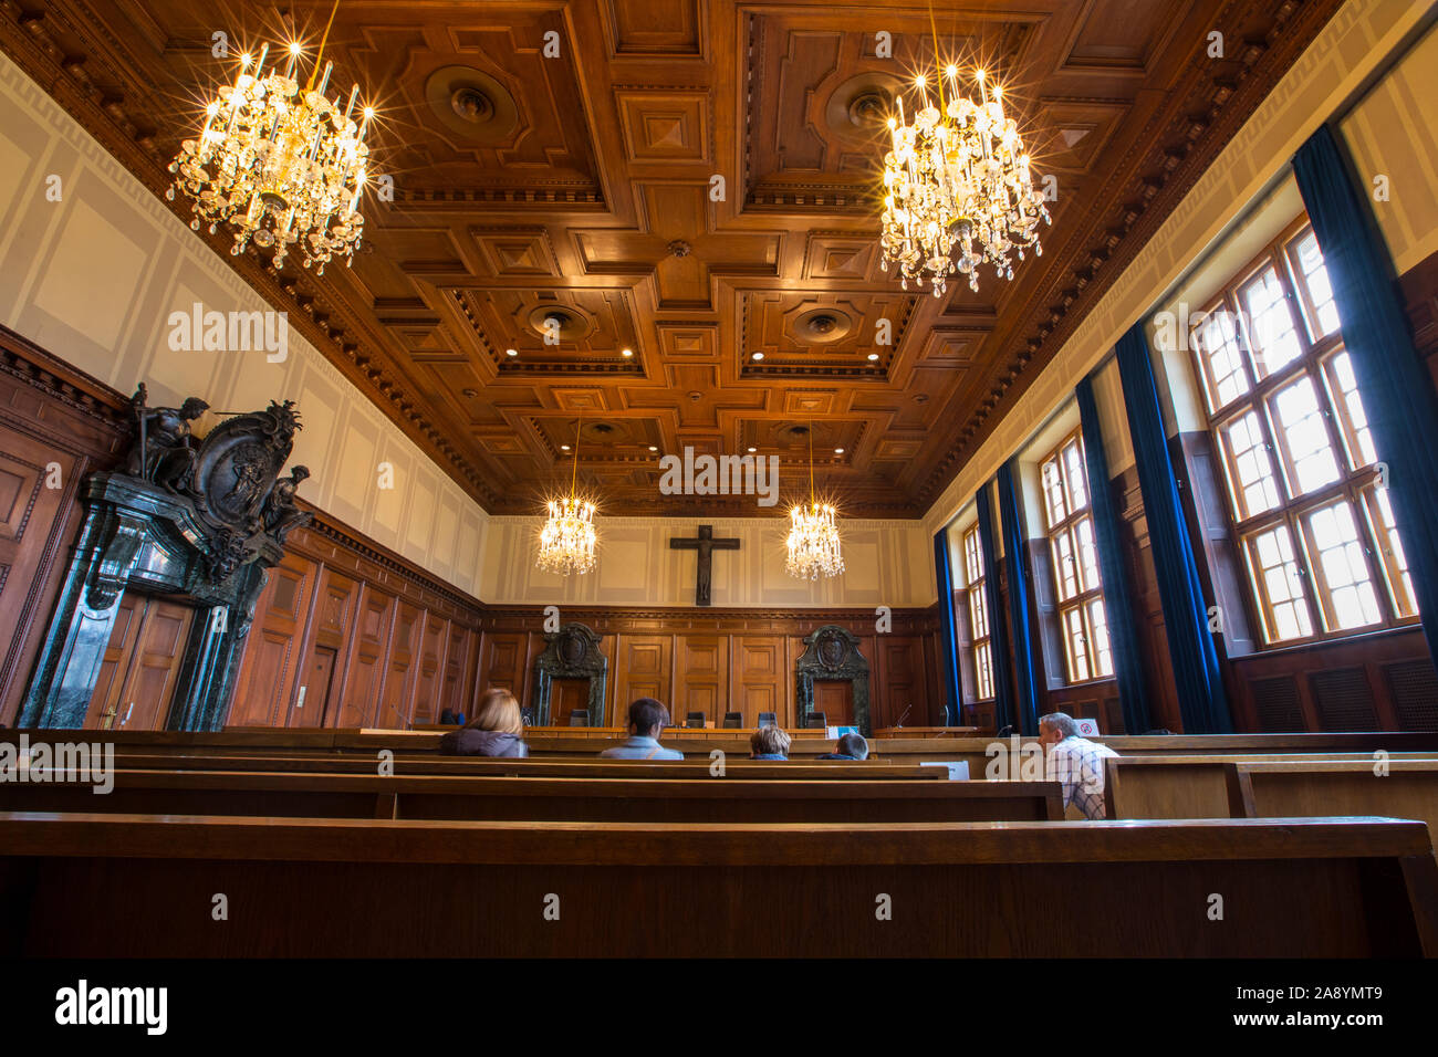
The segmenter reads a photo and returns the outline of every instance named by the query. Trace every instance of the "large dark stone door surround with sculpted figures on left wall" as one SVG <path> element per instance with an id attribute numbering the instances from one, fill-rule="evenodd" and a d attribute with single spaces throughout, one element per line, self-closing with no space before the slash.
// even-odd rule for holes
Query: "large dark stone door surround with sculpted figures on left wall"
<path id="1" fill-rule="evenodd" d="M 266 569 L 312 516 L 295 498 L 309 470 L 279 477 L 301 427 L 293 401 L 232 416 L 203 439 L 190 423 L 206 401 L 145 401 L 139 385 L 124 472 L 85 482 L 85 528 L 26 693 L 26 726 L 83 725 L 121 595 L 134 588 L 197 611 L 165 726 L 219 729 Z"/>

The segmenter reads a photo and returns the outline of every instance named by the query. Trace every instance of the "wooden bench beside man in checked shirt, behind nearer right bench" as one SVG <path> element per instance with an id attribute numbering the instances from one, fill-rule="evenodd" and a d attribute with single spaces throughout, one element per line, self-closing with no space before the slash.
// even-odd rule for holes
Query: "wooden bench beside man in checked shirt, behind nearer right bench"
<path id="1" fill-rule="evenodd" d="M 1438 759 L 1438 755 L 1395 752 L 1391 759 L 1415 762 Z M 1229 818 L 1232 815 L 1228 800 L 1228 768 L 1238 762 L 1281 761 L 1307 764 L 1352 761 L 1373 767 L 1372 754 L 1343 752 L 1109 758 L 1104 761 L 1106 813 L 1109 818 Z"/>

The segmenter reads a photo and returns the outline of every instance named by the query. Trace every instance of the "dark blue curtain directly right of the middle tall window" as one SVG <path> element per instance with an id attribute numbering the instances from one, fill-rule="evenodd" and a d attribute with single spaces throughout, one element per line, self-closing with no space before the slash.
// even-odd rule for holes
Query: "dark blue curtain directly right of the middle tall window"
<path id="1" fill-rule="evenodd" d="M 1093 511 L 1093 535 L 1099 546 L 1099 572 L 1103 577 L 1103 611 L 1109 618 L 1109 647 L 1113 651 L 1113 674 L 1119 682 L 1123 705 L 1123 726 L 1129 733 L 1152 729 L 1148 687 L 1143 685 L 1143 662 L 1139 654 L 1139 633 L 1133 624 L 1135 598 L 1129 588 L 1129 569 L 1123 561 L 1119 536 L 1119 509 L 1113 502 L 1109 477 L 1109 457 L 1103 450 L 1103 427 L 1099 406 L 1093 398 L 1093 375 L 1078 383 L 1078 417 L 1083 420 L 1083 452 L 1089 472 L 1089 506 Z"/>

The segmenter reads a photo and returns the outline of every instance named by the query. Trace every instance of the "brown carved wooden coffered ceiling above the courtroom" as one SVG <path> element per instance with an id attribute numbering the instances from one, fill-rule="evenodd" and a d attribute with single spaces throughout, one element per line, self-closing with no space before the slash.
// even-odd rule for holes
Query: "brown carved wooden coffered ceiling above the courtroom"
<path id="1" fill-rule="evenodd" d="M 332 85 L 378 101 L 394 201 L 352 269 L 226 259 L 492 513 L 535 512 L 582 418 L 607 512 L 754 513 L 660 495 L 659 454 L 778 453 L 797 490 L 808 426 L 844 513 L 917 516 L 1339 1 L 936 3 L 1058 200 L 1014 282 L 935 299 L 880 270 L 873 193 L 873 98 L 932 55 L 925 3 L 342 0 Z M 161 194 L 233 76 L 211 35 L 313 42 L 328 13 L 0 0 L 0 46 Z"/>

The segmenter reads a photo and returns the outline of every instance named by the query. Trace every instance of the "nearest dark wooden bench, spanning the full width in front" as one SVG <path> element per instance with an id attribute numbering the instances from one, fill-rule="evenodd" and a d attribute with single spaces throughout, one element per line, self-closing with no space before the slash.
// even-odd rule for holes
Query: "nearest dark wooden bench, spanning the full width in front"
<path id="1" fill-rule="evenodd" d="M 1428 833 L 1386 818 L 637 825 L 3 813 L 0 856 L 9 956 L 1438 955 Z M 1219 920 L 1211 893 L 1225 900 Z"/>

